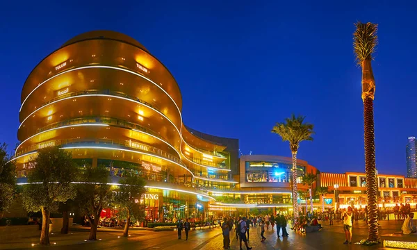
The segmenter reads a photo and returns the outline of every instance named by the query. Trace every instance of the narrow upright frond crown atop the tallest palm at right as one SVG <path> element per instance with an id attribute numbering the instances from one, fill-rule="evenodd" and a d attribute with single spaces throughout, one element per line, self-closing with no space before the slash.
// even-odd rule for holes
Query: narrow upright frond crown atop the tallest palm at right
<path id="1" fill-rule="evenodd" d="M 357 63 L 360 65 L 363 60 L 373 59 L 372 54 L 378 43 L 378 24 L 357 22 L 354 25 L 356 31 L 353 33 L 353 50 Z"/>

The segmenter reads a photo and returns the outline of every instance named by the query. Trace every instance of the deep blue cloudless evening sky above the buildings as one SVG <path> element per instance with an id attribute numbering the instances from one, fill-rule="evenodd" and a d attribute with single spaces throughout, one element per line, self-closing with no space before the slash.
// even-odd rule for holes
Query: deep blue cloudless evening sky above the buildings
<path id="1" fill-rule="evenodd" d="M 299 158 L 322 172 L 363 172 L 357 20 L 379 24 L 377 168 L 406 174 L 405 144 L 417 135 L 416 1 L 1 1 L 0 142 L 17 143 L 20 92 L 33 67 L 75 35 L 108 29 L 170 69 L 187 126 L 238 138 L 244 154 L 290 156 L 270 130 L 291 113 L 306 115 L 316 135 Z"/>

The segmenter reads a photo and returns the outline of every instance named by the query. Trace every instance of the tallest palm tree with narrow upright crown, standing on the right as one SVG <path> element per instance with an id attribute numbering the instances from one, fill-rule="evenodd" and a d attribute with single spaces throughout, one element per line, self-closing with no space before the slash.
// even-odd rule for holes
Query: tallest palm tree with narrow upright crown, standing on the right
<path id="1" fill-rule="evenodd" d="M 377 45 L 377 24 L 357 22 L 353 33 L 353 48 L 358 65 L 362 68 L 362 100 L 365 138 L 366 194 L 368 196 L 368 241 L 379 242 L 377 215 L 377 175 L 375 167 L 375 133 L 373 99 L 375 78 L 370 65 Z"/>

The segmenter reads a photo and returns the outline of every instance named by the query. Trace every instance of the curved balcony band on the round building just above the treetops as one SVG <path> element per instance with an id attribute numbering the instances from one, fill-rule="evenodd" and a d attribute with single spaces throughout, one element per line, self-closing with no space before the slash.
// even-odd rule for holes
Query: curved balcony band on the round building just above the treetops
<path id="1" fill-rule="evenodd" d="M 156 147 L 149 146 L 147 144 L 142 144 L 140 142 L 132 142 L 130 140 L 109 140 L 109 139 L 62 139 L 62 140 L 50 140 L 47 142 L 40 142 L 38 144 L 34 144 L 30 147 L 26 147 L 22 149 L 21 151 L 17 152 L 15 157 L 22 156 L 24 153 L 28 153 L 31 151 L 35 151 L 38 149 L 43 149 L 44 147 L 53 147 L 58 145 L 65 145 L 65 146 L 76 146 L 76 145 L 82 145 L 82 146 L 102 146 L 102 145 L 116 145 L 118 147 L 122 148 L 129 148 L 129 149 L 136 149 L 138 152 L 146 152 L 151 153 L 156 156 L 161 156 L 167 160 L 172 160 L 175 163 L 178 163 L 179 165 L 185 167 L 188 169 L 186 165 L 184 165 L 181 161 L 181 159 L 172 156 L 172 154 L 167 153 L 161 149 L 158 149 Z M 122 149 L 121 148 L 121 149 Z"/>

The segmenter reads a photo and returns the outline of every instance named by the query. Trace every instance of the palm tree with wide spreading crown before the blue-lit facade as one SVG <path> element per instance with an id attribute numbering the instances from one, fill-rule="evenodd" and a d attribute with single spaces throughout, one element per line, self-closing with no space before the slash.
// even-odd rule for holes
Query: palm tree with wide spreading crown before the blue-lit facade
<path id="1" fill-rule="evenodd" d="M 272 128 L 272 133 L 277 133 L 281 136 L 282 141 L 290 142 L 291 153 L 293 154 L 293 211 L 294 222 L 298 220 L 298 203 L 297 203 L 297 151 L 300 147 L 300 142 L 303 140 L 312 141 L 314 125 L 304 123 L 305 117 L 291 115 L 286 118 L 284 122 L 277 122 Z"/>

